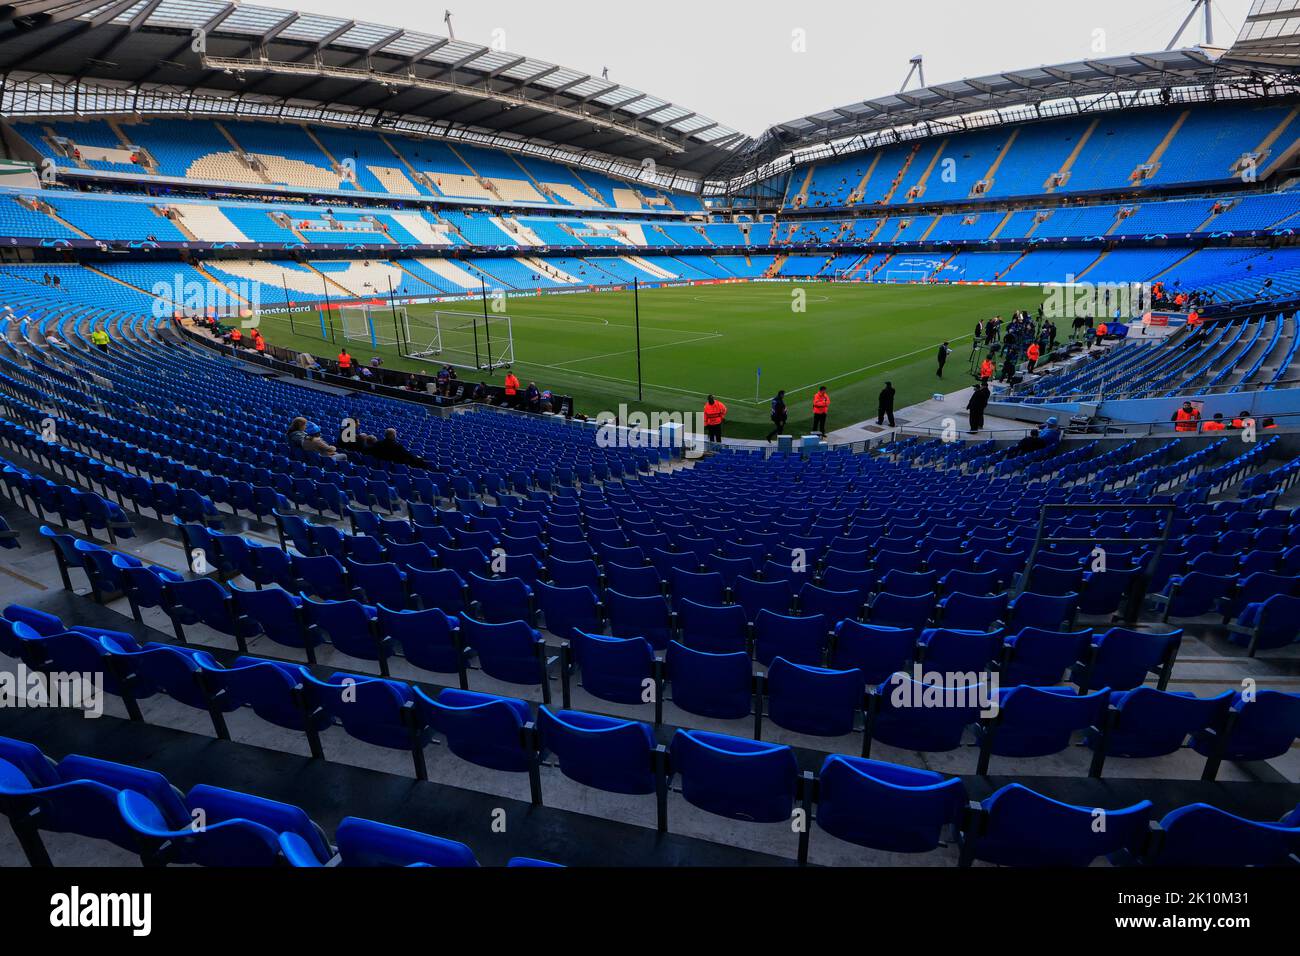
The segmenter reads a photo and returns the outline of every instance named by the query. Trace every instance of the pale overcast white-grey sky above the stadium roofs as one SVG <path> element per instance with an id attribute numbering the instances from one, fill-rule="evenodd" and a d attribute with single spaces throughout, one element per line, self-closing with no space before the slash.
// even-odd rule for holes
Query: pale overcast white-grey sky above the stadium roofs
<path id="1" fill-rule="evenodd" d="M 744 133 L 926 81 L 1164 49 L 1192 0 L 260 0 L 490 46 L 610 78 Z M 1251 0 L 1216 0 L 1228 46 Z M 502 31 L 495 34 L 494 31 Z M 802 31 L 797 34 L 796 31 Z M 1201 22 L 1183 46 L 1200 43 Z M 802 52 L 797 47 L 802 46 Z"/>

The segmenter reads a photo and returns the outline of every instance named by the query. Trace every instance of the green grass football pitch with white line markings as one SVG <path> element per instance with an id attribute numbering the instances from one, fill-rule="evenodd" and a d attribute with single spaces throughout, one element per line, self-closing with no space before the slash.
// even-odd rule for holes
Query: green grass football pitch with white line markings
<path id="1" fill-rule="evenodd" d="M 802 297 L 802 311 L 798 311 Z M 810 424 L 812 394 L 831 390 L 829 428 L 875 418 L 876 395 L 890 380 L 896 407 L 923 402 L 935 392 L 971 384 L 971 334 L 978 319 L 1009 317 L 1018 308 L 1035 312 L 1039 287 L 920 286 L 864 284 L 780 284 L 679 286 L 642 290 L 641 380 L 637 401 L 637 334 L 630 291 L 510 298 L 515 375 L 525 385 L 569 394 L 576 411 L 594 416 L 633 410 L 698 412 L 708 393 L 728 407 L 727 434 L 762 437 L 768 403 L 785 389 L 788 431 Z M 410 306 L 412 326 L 432 321 L 436 310 L 474 312 L 480 299 Z M 389 310 L 376 310 L 376 323 Z M 315 312 L 264 315 L 263 334 L 272 345 L 333 358 L 344 345 L 322 343 Z M 1061 329 L 1069 334 L 1067 328 Z M 391 337 L 391 333 L 390 333 Z M 935 376 L 935 352 L 953 347 L 945 377 Z M 378 352 L 386 368 L 432 373 L 430 362 L 403 358 L 394 346 L 377 350 L 347 342 L 361 362 Z M 759 373 L 759 369 L 762 372 Z M 458 369 L 467 381 L 500 384 L 506 372 Z"/>

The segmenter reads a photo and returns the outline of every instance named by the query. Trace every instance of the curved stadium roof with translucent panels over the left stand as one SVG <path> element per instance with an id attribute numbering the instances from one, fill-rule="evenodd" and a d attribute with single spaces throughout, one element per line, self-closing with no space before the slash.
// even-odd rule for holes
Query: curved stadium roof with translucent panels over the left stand
<path id="1" fill-rule="evenodd" d="M 204 31 L 204 43 L 194 31 Z M 707 174 L 750 138 L 580 70 L 413 30 L 230 0 L 0 4 L 0 70 L 419 117 Z"/>

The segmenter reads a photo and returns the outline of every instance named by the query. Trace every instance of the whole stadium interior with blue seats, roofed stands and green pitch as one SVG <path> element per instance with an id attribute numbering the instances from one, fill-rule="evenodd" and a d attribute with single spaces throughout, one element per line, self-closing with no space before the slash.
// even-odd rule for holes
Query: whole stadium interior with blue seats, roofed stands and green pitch
<path id="1" fill-rule="evenodd" d="M 1184 7 L 748 135 L 0 5 L 0 864 L 1300 865 L 1300 3 Z"/>

